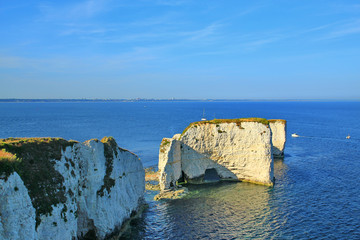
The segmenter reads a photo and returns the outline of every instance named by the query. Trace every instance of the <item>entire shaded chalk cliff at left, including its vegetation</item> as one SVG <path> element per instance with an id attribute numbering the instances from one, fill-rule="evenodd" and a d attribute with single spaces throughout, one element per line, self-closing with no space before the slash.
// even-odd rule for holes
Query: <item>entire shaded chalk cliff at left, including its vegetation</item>
<path id="1" fill-rule="evenodd" d="M 0 157 L 0 239 L 103 239 L 142 201 L 142 164 L 113 138 L 5 139 L 0 148 L 13 154 Z"/>

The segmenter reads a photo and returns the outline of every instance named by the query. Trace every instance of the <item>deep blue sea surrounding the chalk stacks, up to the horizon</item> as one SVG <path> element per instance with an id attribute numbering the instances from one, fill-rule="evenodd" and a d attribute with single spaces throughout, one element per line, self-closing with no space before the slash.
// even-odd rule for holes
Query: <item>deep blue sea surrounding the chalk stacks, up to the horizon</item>
<path id="1" fill-rule="evenodd" d="M 122 239 L 360 239 L 360 102 L 26 102 L 0 103 L 0 112 L 0 138 L 113 136 L 145 167 L 157 165 L 162 138 L 203 113 L 285 119 L 274 187 L 189 185 L 171 201 L 147 191 L 148 208 Z"/>

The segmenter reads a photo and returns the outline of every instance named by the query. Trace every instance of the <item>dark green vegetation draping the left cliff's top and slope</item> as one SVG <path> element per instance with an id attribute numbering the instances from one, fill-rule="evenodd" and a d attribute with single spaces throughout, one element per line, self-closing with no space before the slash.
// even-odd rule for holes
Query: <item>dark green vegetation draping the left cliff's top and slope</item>
<path id="1" fill-rule="evenodd" d="M 40 215 L 51 214 L 53 205 L 66 202 L 64 178 L 52 160 L 60 160 L 61 151 L 75 143 L 62 138 L 0 139 L 0 176 L 7 180 L 11 173 L 19 174 L 36 210 L 36 228 Z"/>

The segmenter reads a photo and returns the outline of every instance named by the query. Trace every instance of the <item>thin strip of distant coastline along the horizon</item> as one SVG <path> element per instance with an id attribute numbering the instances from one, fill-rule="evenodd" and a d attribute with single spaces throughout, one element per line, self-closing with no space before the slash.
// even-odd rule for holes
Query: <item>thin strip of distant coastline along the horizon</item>
<path id="1" fill-rule="evenodd" d="M 359 102 L 360 99 L 101 99 L 101 98 L 81 98 L 81 99 L 21 99 L 6 98 L 0 99 L 0 103 L 61 103 L 61 102 Z"/>

